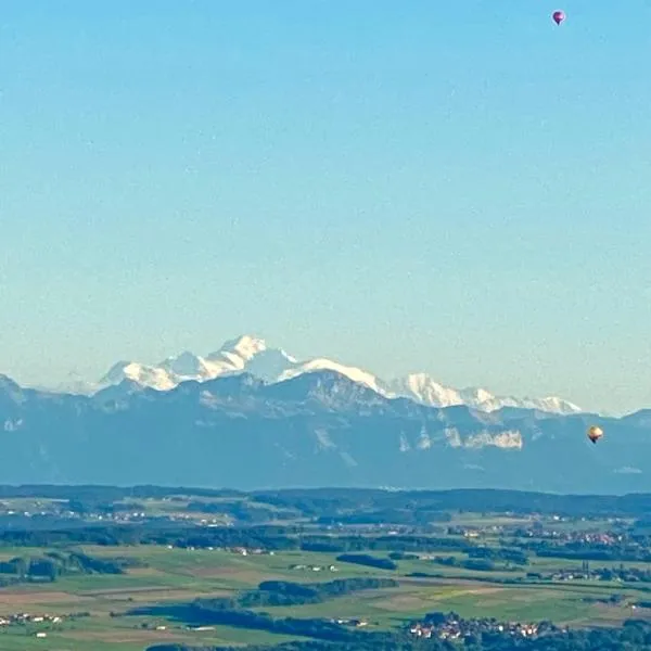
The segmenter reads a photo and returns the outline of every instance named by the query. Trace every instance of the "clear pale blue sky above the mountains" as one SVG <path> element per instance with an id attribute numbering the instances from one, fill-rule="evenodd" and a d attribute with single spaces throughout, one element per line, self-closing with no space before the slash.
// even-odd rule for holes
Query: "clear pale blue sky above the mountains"
<path id="1" fill-rule="evenodd" d="M 0 13 L 0 371 L 257 333 L 651 405 L 651 2 Z"/>

